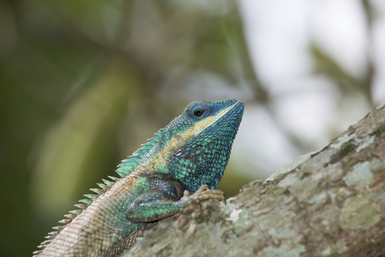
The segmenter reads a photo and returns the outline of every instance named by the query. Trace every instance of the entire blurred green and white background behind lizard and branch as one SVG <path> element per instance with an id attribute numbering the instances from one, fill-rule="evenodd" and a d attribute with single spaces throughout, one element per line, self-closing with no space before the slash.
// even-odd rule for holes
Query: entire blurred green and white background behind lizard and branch
<path id="1" fill-rule="evenodd" d="M 0 1 L 1 256 L 31 256 L 189 102 L 227 98 L 230 197 L 385 100 L 385 1 Z"/>

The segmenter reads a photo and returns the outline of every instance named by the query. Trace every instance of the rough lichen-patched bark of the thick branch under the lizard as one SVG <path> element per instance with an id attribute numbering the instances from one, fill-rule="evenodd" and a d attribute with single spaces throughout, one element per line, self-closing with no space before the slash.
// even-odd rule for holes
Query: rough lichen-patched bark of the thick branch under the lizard
<path id="1" fill-rule="evenodd" d="M 123 256 L 385 256 L 385 102 L 226 205 L 154 223 Z"/>

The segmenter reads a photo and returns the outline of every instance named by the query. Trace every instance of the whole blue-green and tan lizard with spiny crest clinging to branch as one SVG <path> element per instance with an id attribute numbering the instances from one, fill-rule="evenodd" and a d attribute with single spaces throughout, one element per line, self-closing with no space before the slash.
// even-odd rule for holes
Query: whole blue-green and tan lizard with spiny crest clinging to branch
<path id="1" fill-rule="evenodd" d="M 96 194 L 53 227 L 34 257 L 117 257 L 149 222 L 182 213 L 205 199 L 225 201 L 215 190 L 227 166 L 243 116 L 236 99 L 194 101 L 142 144 Z"/>

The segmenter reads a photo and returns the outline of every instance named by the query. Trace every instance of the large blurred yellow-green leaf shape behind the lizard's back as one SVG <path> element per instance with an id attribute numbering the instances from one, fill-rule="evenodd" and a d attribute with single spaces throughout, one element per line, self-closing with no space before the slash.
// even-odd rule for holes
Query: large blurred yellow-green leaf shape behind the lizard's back
<path id="1" fill-rule="evenodd" d="M 117 125 L 138 84 L 135 75 L 127 77 L 127 72 L 108 62 L 88 82 L 93 86 L 77 95 L 42 138 L 32 181 L 33 206 L 40 221 L 65 214 L 76 197 L 87 193 L 106 172 L 114 173 Z"/>

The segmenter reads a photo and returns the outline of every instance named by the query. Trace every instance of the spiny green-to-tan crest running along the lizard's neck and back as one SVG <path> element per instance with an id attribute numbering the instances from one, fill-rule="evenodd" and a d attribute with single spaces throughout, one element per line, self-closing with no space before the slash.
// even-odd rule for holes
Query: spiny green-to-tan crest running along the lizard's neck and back
<path id="1" fill-rule="evenodd" d="M 122 160 L 122 162 L 117 166 L 118 169 L 116 170 L 116 173 L 118 173 L 120 177 L 124 177 L 124 176 L 128 175 L 129 173 L 131 173 L 133 170 L 135 170 L 135 168 L 139 165 L 139 163 L 142 161 L 144 156 L 158 143 L 159 138 L 162 135 L 163 131 L 164 131 L 164 129 L 159 129 L 159 131 L 154 133 L 156 136 L 147 139 L 148 140 L 147 143 L 142 144 L 141 148 L 136 150 L 131 156 L 128 156 L 127 159 Z M 75 207 L 77 207 L 79 209 L 70 211 L 69 214 L 64 215 L 67 218 L 60 220 L 59 223 L 64 223 L 65 225 L 53 227 L 53 229 L 55 229 L 56 231 L 52 231 L 52 232 L 48 233 L 48 236 L 45 236 L 45 238 L 47 240 L 45 240 L 44 242 L 42 242 L 38 246 L 38 248 L 40 248 L 40 250 L 33 252 L 34 257 L 36 257 L 45 248 L 45 246 L 47 244 L 49 244 L 53 238 L 55 238 L 55 236 L 57 234 L 59 234 L 60 230 L 62 230 L 67 224 L 71 223 L 71 221 L 74 218 L 76 218 L 77 215 L 81 214 L 81 212 L 84 209 L 86 209 L 96 198 L 98 198 L 99 195 L 106 192 L 108 189 L 110 189 L 116 183 L 116 181 L 119 180 L 119 178 L 117 178 L 117 177 L 113 177 L 113 176 L 108 176 L 108 177 L 112 181 L 107 180 L 107 179 L 102 179 L 103 183 L 97 183 L 97 185 L 101 189 L 99 189 L 99 188 L 91 188 L 90 189 L 91 191 L 95 192 L 96 195 L 95 194 L 85 194 L 84 196 L 89 198 L 89 199 L 79 200 L 79 202 L 82 204 L 76 204 L 75 205 Z"/>

